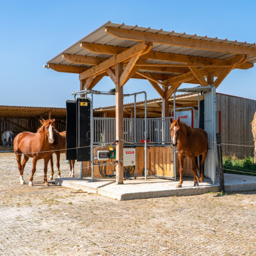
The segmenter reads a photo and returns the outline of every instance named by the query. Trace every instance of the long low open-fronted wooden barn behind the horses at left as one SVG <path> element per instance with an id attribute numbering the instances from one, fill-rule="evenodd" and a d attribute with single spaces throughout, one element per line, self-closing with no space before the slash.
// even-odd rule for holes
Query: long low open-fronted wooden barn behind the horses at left
<path id="1" fill-rule="evenodd" d="M 11 130 L 15 136 L 20 132 L 37 132 L 42 118 L 54 118 L 56 129 L 66 130 L 66 108 L 0 105 L 0 132 Z"/>

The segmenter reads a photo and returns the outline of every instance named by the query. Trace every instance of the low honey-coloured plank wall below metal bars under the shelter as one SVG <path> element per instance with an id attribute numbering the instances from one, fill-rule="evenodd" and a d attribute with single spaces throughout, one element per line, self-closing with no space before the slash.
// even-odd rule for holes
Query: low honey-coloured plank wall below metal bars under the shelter
<path id="1" fill-rule="evenodd" d="M 113 147 L 115 148 L 115 147 Z M 96 155 L 96 151 L 98 150 L 108 150 L 108 147 L 97 147 L 94 148 L 94 155 Z M 137 147 L 136 148 L 136 161 L 137 161 L 137 174 L 143 173 L 144 166 L 144 148 Z M 115 160 L 115 159 L 113 159 Z M 111 163 L 112 159 L 107 160 L 107 163 Z M 96 163 L 98 161 L 96 160 Z M 176 175 L 179 176 L 179 159 L 176 156 Z M 83 177 L 91 176 L 91 163 L 84 162 L 83 163 Z M 103 166 L 104 168 L 104 166 Z M 185 158 L 184 166 L 183 166 L 183 175 L 185 176 L 193 176 L 193 172 L 191 172 L 191 163 L 189 158 Z M 173 163 L 173 149 L 170 146 L 165 147 L 150 147 L 147 149 L 147 169 L 149 169 L 149 176 L 157 175 L 157 176 L 168 176 L 174 177 L 174 163 Z M 114 166 L 106 166 L 106 173 L 108 175 L 112 175 L 114 171 Z M 102 177 L 99 172 L 99 166 L 94 166 L 94 177 L 100 178 Z"/>

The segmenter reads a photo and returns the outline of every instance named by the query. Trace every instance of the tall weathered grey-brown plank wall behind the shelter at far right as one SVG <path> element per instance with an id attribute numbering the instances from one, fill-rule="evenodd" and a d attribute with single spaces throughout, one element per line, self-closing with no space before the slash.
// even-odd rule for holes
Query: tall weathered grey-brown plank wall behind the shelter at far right
<path id="1" fill-rule="evenodd" d="M 238 158 L 253 156 L 254 138 L 252 120 L 256 111 L 256 101 L 226 94 L 216 94 L 217 111 L 221 111 L 221 141 L 224 155 L 236 155 Z"/>

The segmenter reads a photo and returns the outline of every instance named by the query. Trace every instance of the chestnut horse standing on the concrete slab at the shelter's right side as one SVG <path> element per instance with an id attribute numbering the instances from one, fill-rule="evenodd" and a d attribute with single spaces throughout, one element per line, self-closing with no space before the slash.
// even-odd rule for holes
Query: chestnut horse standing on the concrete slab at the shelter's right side
<path id="1" fill-rule="evenodd" d="M 179 152 L 180 163 L 180 182 L 177 188 L 182 187 L 183 183 L 183 162 L 185 157 L 189 157 L 192 162 L 192 171 L 194 174 L 194 186 L 198 186 L 198 182 L 204 182 L 204 162 L 208 151 L 207 132 L 201 128 L 192 129 L 180 119 L 171 119 L 171 143 L 172 147 Z M 197 155 L 202 155 L 200 180 L 197 176 Z M 176 170 L 174 170 L 176 171 Z"/>

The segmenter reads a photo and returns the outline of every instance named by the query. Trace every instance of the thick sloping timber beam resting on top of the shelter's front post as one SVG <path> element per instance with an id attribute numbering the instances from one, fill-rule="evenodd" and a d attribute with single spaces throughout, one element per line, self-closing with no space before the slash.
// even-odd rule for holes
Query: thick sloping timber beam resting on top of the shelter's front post
<path id="1" fill-rule="evenodd" d="M 106 69 L 111 68 L 112 66 L 115 66 L 117 63 L 121 63 L 126 60 L 129 60 L 134 55 L 143 54 L 143 51 L 148 51 L 148 50 L 150 51 L 151 48 L 149 48 L 149 46 L 151 46 L 152 48 L 152 43 L 141 42 L 139 44 L 136 44 L 132 48 L 129 48 L 126 51 L 121 52 L 120 54 L 115 55 L 112 58 L 107 59 L 96 66 L 93 66 L 87 71 L 80 73 L 79 79 L 83 80 L 90 76 L 96 76 L 99 73 L 105 72 Z"/>

